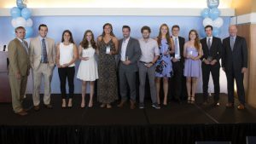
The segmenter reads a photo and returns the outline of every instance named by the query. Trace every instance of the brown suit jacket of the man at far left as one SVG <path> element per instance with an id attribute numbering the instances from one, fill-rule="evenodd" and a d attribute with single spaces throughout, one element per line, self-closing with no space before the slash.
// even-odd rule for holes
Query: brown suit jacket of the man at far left
<path id="1" fill-rule="evenodd" d="M 28 55 L 28 44 L 25 42 L 26 48 L 22 45 L 18 38 L 9 42 L 8 55 L 9 55 L 9 75 L 15 75 L 20 72 L 21 76 L 26 76 L 30 64 Z M 27 49 L 27 50 L 26 50 Z"/>

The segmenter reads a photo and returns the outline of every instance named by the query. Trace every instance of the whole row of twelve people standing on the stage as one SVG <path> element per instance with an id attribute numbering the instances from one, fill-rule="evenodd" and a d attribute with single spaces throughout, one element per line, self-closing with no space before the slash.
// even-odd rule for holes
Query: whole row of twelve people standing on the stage
<path id="1" fill-rule="evenodd" d="M 130 36 L 131 27 L 123 26 L 123 38 L 118 39 L 113 34 L 110 23 L 103 26 L 102 35 L 96 38 L 92 31 L 84 32 L 79 48 L 73 41 L 69 30 L 62 33 L 61 43 L 55 46 L 55 41 L 47 37 L 48 27 L 38 26 L 38 37 L 26 43 L 26 30 L 20 26 L 15 28 L 16 37 L 9 43 L 9 82 L 12 93 L 12 104 L 15 113 L 24 116 L 26 109 L 22 107 L 23 95 L 26 92 L 27 76 L 32 69 L 33 78 L 33 109 L 40 110 L 40 84 L 44 78 L 44 107 L 52 108 L 50 104 L 50 83 L 55 65 L 58 68 L 61 81 L 61 107 L 73 107 L 73 91 L 75 77 L 75 61 L 81 60 L 76 78 L 82 81 L 82 100 L 80 107 L 87 106 L 85 94 L 87 84 L 90 84 L 90 101 L 88 107 L 93 107 L 95 81 L 97 79 L 97 101 L 100 107 L 111 108 L 113 101 L 121 100 L 118 107 L 124 107 L 130 97 L 130 108 L 136 108 L 136 80 L 139 75 L 139 108 L 144 108 L 145 82 L 148 75 L 152 107 L 160 109 L 167 105 L 169 79 L 174 77 L 175 98 L 181 101 L 183 76 L 186 77 L 187 101 L 195 103 L 195 90 L 198 78 L 203 79 L 204 105 L 208 105 L 208 82 L 210 72 L 214 84 L 214 107 L 219 103 L 219 60 L 226 72 L 229 101 L 226 107 L 234 107 L 234 79 L 240 104 L 238 109 L 245 108 L 245 92 L 243 73 L 247 71 L 247 45 L 244 37 L 236 35 L 236 26 L 230 26 L 230 37 L 221 42 L 212 36 L 212 26 L 206 26 L 207 37 L 199 39 L 195 30 L 189 32 L 189 41 L 185 42 L 179 36 L 180 27 L 172 26 L 172 36 L 166 24 L 160 26 L 159 35 L 150 37 L 151 29 L 143 26 L 142 38 Z M 96 57 L 98 58 L 96 60 Z M 202 72 L 202 74 L 201 74 Z M 118 74 L 117 74 L 118 73 Z M 119 77 L 119 83 L 118 83 Z M 69 93 L 67 95 L 66 83 Z M 160 86 L 163 82 L 164 98 L 160 100 Z M 129 92 L 127 87 L 129 87 Z M 130 94 L 128 96 L 127 94 Z"/>

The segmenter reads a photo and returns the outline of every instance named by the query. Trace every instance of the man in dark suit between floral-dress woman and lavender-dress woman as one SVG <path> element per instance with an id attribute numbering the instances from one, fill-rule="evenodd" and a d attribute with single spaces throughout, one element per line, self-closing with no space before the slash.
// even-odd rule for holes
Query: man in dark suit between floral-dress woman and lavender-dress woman
<path id="1" fill-rule="evenodd" d="M 175 46 L 175 53 L 172 55 L 172 70 L 173 70 L 173 78 L 171 78 L 171 81 L 173 80 L 173 84 L 171 87 L 174 89 L 171 91 L 172 95 L 174 95 L 174 98 L 181 103 L 183 99 L 186 99 L 186 97 L 183 97 L 186 94 L 183 94 L 183 91 L 186 92 L 186 83 L 185 78 L 183 76 L 183 68 L 184 68 L 184 57 L 183 57 L 183 46 L 185 43 L 185 39 L 183 37 L 179 36 L 179 26 L 174 25 L 172 26 L 172 40 L 174 42 Z M 182 90 L 184 89 L 184 90 Z"/>

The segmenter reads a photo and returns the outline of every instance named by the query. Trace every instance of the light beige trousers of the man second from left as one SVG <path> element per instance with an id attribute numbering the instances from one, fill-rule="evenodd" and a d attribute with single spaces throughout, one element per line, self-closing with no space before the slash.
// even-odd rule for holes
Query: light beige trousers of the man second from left
<path id="1" fill-rule="evenodd" d="M 40 104 L 40 86 L 42 76 L 44 78 L 44 104 L 50 103 L 50 82 L 52 78 L 53 67 L 47 63 L 40 63 L 37 70 L 32 70 L 33 74 L 33 104 L 38 106 Z"/>

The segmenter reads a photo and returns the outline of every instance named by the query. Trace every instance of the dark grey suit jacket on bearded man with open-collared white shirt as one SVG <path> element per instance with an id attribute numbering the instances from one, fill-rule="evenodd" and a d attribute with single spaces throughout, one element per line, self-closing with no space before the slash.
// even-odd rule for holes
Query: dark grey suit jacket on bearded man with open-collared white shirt
<path id="1" fill-rule="evenodd" d="M 142 55 L 140 44 L 137 39 L 130 37 L 129 42 L 127 44 L 125 56 L 129 57 L 131 64 L 126 66 L 120 61 L 123 39 L 124 38 L 119 40 L 119 55 L 118 55 L 119 68 L 122 68 L 123 70 L 129 71 L 129 72 L 137 72 L 138 70 L 137 60 L 139 60 Z"/>

